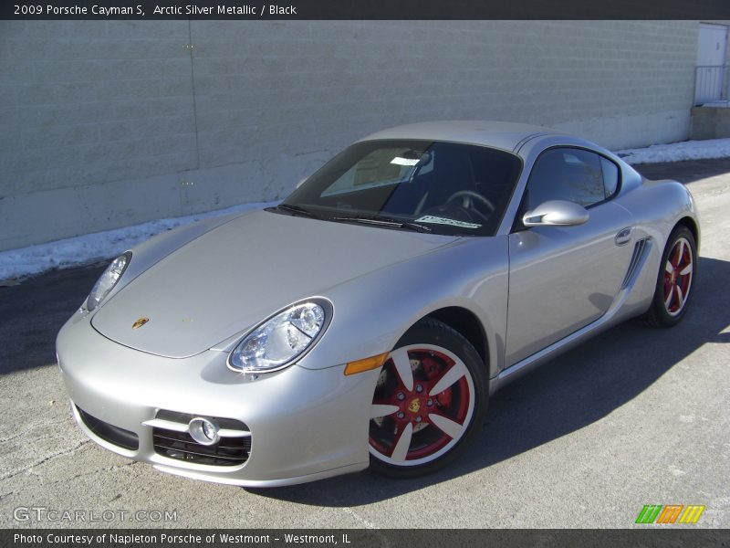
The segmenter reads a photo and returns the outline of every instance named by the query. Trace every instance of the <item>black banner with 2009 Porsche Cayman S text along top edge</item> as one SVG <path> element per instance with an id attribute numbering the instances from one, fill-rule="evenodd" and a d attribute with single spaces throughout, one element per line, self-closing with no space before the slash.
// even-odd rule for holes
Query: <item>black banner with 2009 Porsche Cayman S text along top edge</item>
<path id="1" fill-rule="evenodd" d="M 3 0 L 0 19 L 730 19 L 730 0 Z"/>

